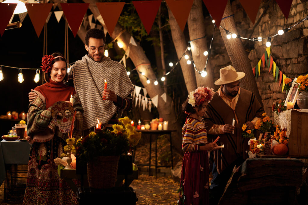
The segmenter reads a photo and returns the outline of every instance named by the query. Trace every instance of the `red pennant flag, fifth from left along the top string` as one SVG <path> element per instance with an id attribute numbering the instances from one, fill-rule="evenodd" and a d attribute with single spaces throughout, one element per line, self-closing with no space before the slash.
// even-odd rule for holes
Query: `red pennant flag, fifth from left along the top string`
<path id="1" fill-rule="evenodd" d="M 159 1 L 133 1 L 136 11 L 148 34 L 150 34 L 161 0 Z"/>

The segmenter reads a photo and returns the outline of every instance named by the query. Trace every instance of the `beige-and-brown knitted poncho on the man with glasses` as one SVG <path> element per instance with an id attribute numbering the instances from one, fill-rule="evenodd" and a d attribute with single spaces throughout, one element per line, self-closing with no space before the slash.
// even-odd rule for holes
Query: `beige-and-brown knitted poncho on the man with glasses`
<path id="1" fill-rule="evenodd" d="M 76 61 L 71 71 L 83 108 L 83 129 L 94 127 L 96 119 L 107 124 L 118 111 L 112 101 L 102 99 L 104 80 L 107 81 L 107 89 L 120 97 L 127 97 L 134 90 L 124 66 L 106 56 L 95 62 L 85 55 L 82 60 Z M 120 112 L 121 116 L 123 111 Z"/>

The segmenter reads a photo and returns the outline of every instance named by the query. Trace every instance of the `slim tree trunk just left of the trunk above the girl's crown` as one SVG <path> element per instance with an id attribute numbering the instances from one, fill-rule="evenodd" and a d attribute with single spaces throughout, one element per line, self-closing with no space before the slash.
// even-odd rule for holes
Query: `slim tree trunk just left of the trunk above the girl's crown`
<path id="1" fill-rule="evenodd" d="M 167 8 L 168 8 L 168 14 L 169 14 L 169 24 L 170 24 L 170 29 L 171 29 L 172 41 L 176 49 L 177 57 L 178 59 L 180 59 L 180 57 L 182 57 L 184 51 L 187 48 L 187 41 L 185 40 L 184 34 L 181 31 L 180 26 L 177 24 L 176 19 L 174 18 L 168 5 L 167 5 Z M 180 65 L 181 65 L 182 73 L 184 76 L 184 81 L 186 84 L 187 91 L 188 93 L 190 93 L 197 88 L 197 81 L 196 81 L 196 75 L 195 75 L 196 71 L 193 65 L 192 64 L 188 65 L 186 61 L 187 60 L 183 57 L 180 60 Z"/>

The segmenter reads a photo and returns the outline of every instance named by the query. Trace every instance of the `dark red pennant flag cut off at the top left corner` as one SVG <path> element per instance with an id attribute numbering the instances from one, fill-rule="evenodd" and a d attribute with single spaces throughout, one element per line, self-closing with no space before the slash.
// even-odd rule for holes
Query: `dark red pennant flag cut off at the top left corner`
<path id="1" fill-rule="evenodd" d="M 0 3 L 0 34 L 3 35 L 17 4 Z"/>

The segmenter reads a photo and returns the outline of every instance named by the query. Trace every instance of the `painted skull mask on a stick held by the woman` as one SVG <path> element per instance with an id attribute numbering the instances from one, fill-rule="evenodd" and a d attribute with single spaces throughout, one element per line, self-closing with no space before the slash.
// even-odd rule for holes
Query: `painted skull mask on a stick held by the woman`
<path id="1" fill-rule="evenodd" d="M 58 101 L 51 106 L 51 116 L 60 132 L 69 132 L 74 115 L 73 106 L 65 101 Z M 73 125 L 74 128 L 74 125 Z"/>

